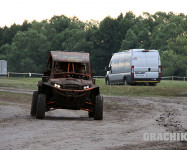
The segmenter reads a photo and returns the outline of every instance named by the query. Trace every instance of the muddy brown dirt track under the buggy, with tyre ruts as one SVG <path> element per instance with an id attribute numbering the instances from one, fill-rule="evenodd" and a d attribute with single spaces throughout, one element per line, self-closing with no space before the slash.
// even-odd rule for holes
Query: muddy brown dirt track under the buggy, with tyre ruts
<path id="1" fill-rule="evenodd" d="M 186 132 L 187 99 L 104 96 L 104 120 L 85 111 L 30 116 L 30 102 L 0 98 L 0 149 L 187 149 L 187 142 L 150 142 L 144 133 Z"/>

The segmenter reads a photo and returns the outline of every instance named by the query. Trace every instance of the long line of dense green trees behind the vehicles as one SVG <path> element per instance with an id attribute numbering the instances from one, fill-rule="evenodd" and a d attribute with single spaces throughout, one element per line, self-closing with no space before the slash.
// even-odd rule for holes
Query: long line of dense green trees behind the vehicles
<path id="1" fill-rule="evenodd" d="M 163 76 L 187 75 L 187 15 L 156 12 L 135 16 L 133 12 L 102 21 L 83 22 L 77 17 L 24 21 L 0 27 L 0 60 L 8 71 L 38 72 L 45 69 L 51 50 L 84 51 L 91 54 L 96 75 L 105 75 L 113 53 L 134 49 L 157 49 Z"/>

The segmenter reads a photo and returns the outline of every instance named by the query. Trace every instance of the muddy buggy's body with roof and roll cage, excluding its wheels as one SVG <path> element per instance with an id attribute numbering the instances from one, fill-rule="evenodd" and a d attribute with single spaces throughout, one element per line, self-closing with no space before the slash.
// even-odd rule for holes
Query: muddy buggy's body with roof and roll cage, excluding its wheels
<path id="1" fill-rule="evenodd" d="M 51 51 L 38 91 L 46 95 L 48 109 L 93 110 L 100 93 L 91 77 L 89 53 Z"/>

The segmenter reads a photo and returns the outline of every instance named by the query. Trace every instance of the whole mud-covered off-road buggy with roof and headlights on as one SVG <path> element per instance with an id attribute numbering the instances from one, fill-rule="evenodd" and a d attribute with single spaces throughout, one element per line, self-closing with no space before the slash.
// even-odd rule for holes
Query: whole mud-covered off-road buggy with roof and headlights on
<path id="1" fill-rule="evenodd" d="M 88 111 L 103 119 L 103 97 L 91 76 L 90 55 L 83 52 L 51 51 L 38 91 L 33 93 L 31 116 L 43 119 L 54 109 Z"/>

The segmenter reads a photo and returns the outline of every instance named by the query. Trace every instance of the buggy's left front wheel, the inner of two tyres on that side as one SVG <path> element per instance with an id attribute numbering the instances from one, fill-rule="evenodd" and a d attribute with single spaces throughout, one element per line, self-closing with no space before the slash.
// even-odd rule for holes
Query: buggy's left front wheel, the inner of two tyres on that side
<path id="1" fill-rule="evenodd" d="M 36 109 L 36 118 L 44 119 L 45 118 L 45 109 L 46 109 L 46 95 L 39 94 L 37 100 L 37 109 Z"/>

